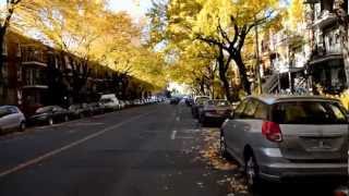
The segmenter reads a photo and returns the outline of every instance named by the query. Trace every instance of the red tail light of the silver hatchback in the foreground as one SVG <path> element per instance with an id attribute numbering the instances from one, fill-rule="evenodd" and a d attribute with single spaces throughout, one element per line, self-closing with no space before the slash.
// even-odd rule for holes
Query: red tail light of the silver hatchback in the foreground
<path id="1" fill-rule="evenodd" d="M 282 133 L 279 124 L 270 121 L 264 121 L 262 125 L 262 134 L 270 142 L 282 142 Z"/>

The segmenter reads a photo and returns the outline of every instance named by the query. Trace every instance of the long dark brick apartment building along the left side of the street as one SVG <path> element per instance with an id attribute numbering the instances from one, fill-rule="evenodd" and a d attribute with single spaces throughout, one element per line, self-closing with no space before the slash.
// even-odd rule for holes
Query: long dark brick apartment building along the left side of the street
<path id="1" fill-rule="evenodd" d="M 107 93 L 121 99 L 139 98 L 149 86 L 14 30 L 8 32 L 3 48 L 0 105 L 19 106 L 27 114 L 40 106 L 96 101 Z"/>

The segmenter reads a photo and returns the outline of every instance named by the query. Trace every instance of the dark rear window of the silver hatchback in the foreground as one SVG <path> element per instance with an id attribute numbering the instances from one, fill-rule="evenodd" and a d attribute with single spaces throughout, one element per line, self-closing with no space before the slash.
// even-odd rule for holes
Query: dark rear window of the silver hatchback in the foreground
<path id="1" fill-rule="evenodd" d="M 347 124 L 346 112 L 329 101 L 280 102 L 273 107 L 272 115 L 280 124 Z"/>

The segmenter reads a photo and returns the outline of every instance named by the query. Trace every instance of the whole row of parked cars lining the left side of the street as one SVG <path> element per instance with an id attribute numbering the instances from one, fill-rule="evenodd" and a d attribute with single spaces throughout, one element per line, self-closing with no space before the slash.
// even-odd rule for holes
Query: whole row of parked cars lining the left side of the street
<path id="1" fill-rule="evenodd" d="M 165 98 L 160 97 L 119 100 L 115 95 L 103 95 L 98 102 L 74 103 L 68 108 L 46 106 L 38 108 L 35 113 L 29 117 L 25 117 L 15 106 L 0 106 L 0 134 L 13 131 L 24 131 L 27 125 L 52 125 L 134 106 L 157 103 L 164 100 Z"/>

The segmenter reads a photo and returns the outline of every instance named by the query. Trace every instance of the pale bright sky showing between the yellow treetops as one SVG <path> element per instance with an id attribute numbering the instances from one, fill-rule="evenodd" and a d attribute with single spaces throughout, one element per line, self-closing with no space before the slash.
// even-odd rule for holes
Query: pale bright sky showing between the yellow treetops
<path id="1" fill-rule="evenodd" d="M 4 5 L 7 0 L 0 0 L 0 5 Z M 151 8 L 152 0 L 109 0 L 109 8 L 116 12 L 127 11 L 135 20 L 145 16 Z"/>

